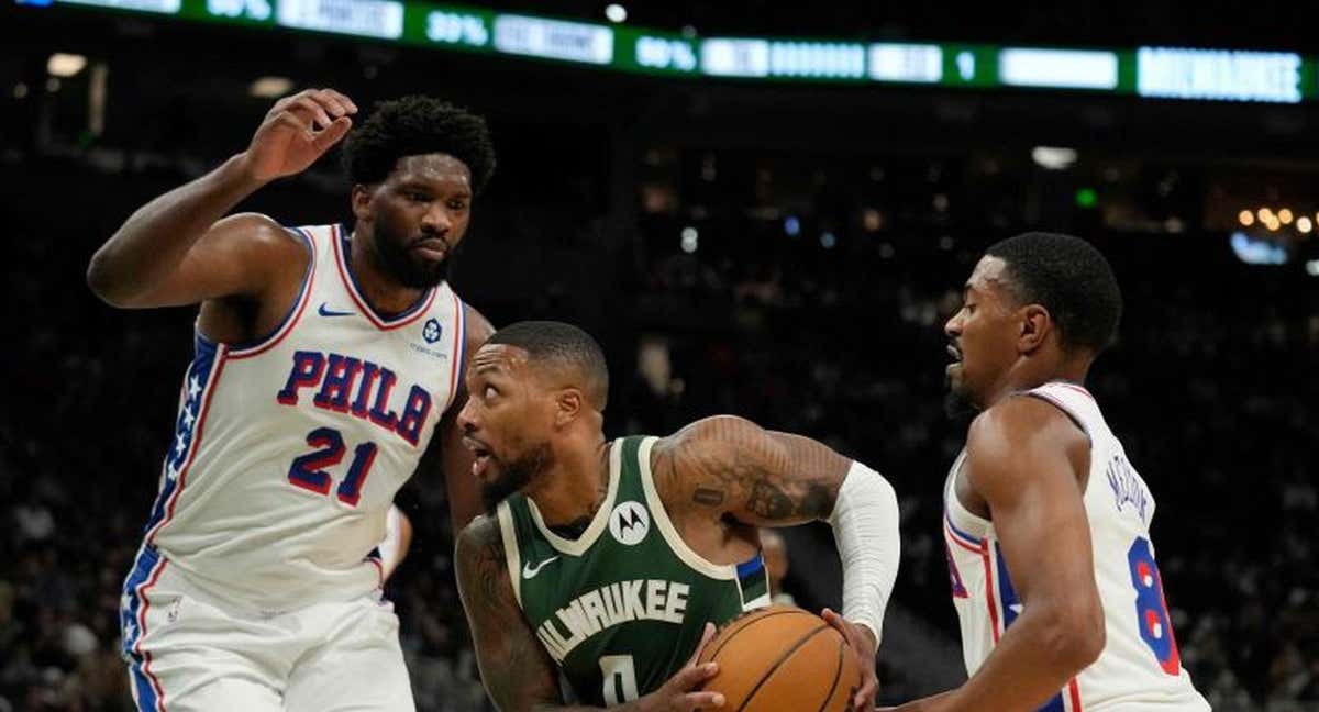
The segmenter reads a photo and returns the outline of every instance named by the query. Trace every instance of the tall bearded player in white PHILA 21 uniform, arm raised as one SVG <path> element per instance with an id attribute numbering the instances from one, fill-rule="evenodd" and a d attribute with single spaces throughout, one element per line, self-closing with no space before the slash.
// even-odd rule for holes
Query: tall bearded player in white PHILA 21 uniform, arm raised
<path id="1" fill-rule="evenodd" d="M 445 274 L 495 166 L 485 124 L 386 102 L 344 149 L 352 229 L 224 218 L 356 112 L 332 90 L 281 99 L 247 150 L 137 210 L 88 269 L 119 307 L 200 303 L 121 599 L 141 709 L 413 709 L 376 547 L 418 463 L 458 472 L 456 523 L 477 509 L 454 415 L 491 330 Z"/>

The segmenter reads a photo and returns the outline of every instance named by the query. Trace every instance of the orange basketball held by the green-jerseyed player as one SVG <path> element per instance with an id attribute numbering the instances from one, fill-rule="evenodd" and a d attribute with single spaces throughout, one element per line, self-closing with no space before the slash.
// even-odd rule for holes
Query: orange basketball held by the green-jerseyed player
<path id="1" fill-rule="evenodd" d="M 824 618 L 772 605 L 725 624 L 700 653 L 719 663 L 703 690 L 723 692 L 729 712 L 843 712 L 861 666 Z"/>

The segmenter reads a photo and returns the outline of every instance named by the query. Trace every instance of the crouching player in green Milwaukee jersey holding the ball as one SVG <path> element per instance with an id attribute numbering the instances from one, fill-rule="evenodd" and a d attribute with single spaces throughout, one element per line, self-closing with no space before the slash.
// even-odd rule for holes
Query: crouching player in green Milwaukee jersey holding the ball
<path id="1" fill-rule="evenodd" d="M 467 386 L 458 418 L 492 513 L 458 538 L 458 583 L 499 709 L 719 707 L 694 691 L 715 672 L 694 665 L 708 624 L 769 603 L 756 527 L 811 519 L 834 526 L 845 618 L 824 617 L 860 654 L 857 708 L 873 707 L 898 566 L 897 498 L 877 472 L 733 417 L 607 442 L 604 355 L 558 322 L 496 332 Z"/>

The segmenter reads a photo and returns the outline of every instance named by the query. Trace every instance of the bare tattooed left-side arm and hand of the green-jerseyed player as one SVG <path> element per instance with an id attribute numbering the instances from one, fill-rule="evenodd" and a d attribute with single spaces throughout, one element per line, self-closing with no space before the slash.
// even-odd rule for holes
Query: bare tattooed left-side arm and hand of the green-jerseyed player
<path id="1" fill-rule="evenodd" d="M 586 712 L 599 707 L 565 705 L 558 675 L 522 609 L 513 597 L 499 522 L 477 517 L 458 535 L 458 593 L 472 629 L 481 684 L 501 712 Z M 694 692 L 715 675 L 715 663 L 696 665 L 700 650 L 715 634 L 712 625 L 687 665 L 660 690 L 613 709 L 619 712 L 665 712 L 721 707 L 723 695 Z"/>

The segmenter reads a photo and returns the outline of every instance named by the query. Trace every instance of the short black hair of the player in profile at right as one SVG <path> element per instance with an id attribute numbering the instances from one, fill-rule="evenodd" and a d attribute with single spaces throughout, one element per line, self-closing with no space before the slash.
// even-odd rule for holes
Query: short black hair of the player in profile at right
<path id="1" fill-rule="evenodd" d="M 1055 232 L 1025 232 L 992 245 L 987 256 L 1006 264 L 1022 303 L 1049 310 L 1063 348 L 1096 355 L 1117 339 L 1122 293 L 1108 260 L 1093 245 Z"/>

